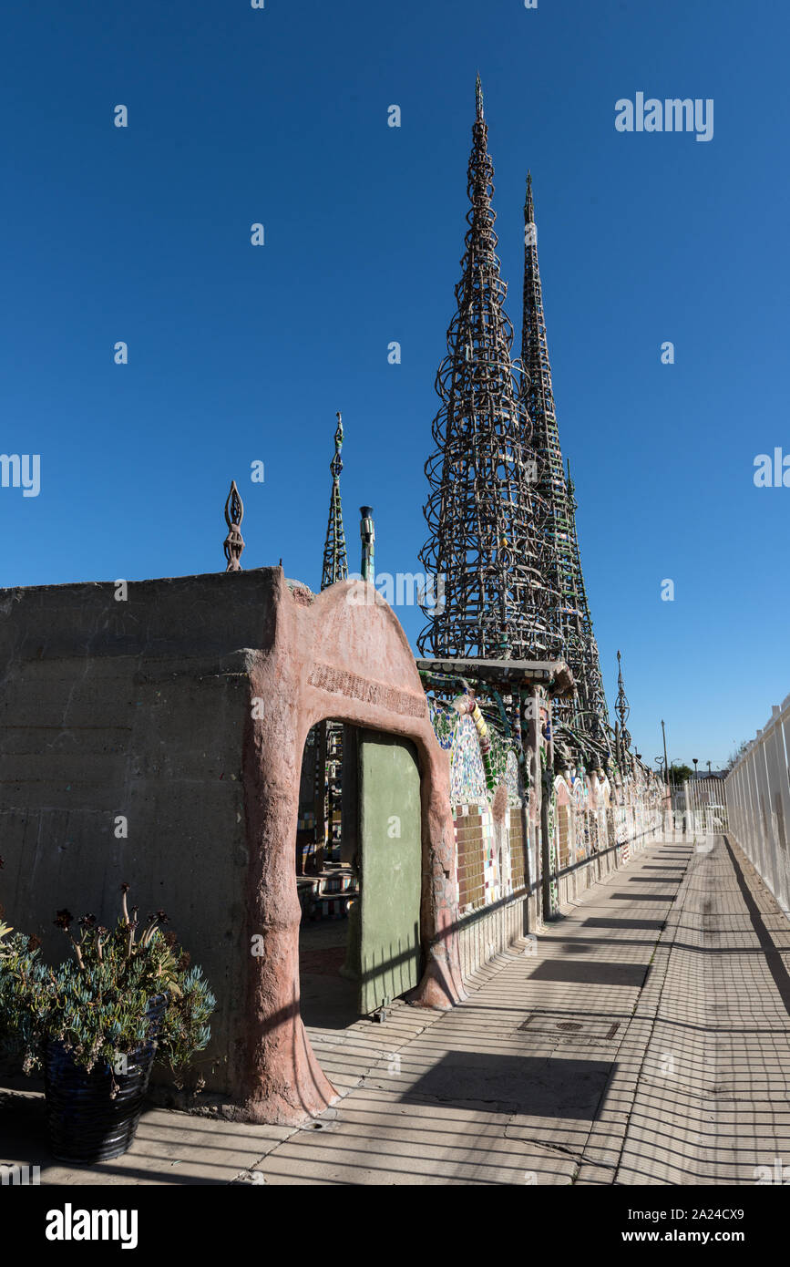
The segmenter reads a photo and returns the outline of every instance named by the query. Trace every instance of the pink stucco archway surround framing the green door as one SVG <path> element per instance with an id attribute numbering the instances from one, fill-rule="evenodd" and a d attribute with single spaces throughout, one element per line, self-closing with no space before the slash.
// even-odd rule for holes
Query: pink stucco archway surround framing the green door
<path id="1" fill-rule="evenodd" d="M 413 740 L 420 765 L 424 972 L 411 1002 L 451 1007 L 463 997 L 449 763 L 437 742 L 405 634 L 373 587 L 342 582 L 311 595 L 275 573 L 263 647 L 249 666 L 243 784 L 248 848 L 244 1020 L 232 1071 L 234 1100 L 251 1121 L 296 1124 L 335 1091 L 299 1012 L 299 921 L 294 840 L 301 754 L 325 717 Z M 253 701 L 257 707 L 253 708 Z M 262 713 L 262 716 L 254 716 Z"/>

